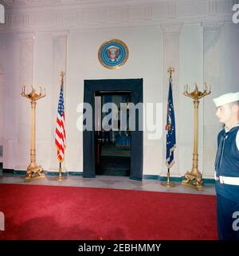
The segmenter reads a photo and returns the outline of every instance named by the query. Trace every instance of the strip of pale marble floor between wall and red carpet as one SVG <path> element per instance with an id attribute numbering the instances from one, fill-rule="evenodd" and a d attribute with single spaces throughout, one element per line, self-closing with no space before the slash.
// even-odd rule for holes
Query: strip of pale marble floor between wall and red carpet
<path id="1" fill-rule="evenodd" d="M 16 183 L 26 185 L 49 185 L 49 186 L 69 186 L 69 187 L 103 187 L 114 189 L 130 189 L 136 191 L 162 191 L 173 193 L 188 193 L 215 195 L 214 184 L 206 183 L 203 185 L 203 191 L 196 191 L 193 188 L 186 187 L 180 183 L 175 183 L 175 187 L 164 187 L 157 179 L 143 179 L 137 181 L 123 176 L 96 175 L 96 178 L 83 178 L 79 175 L 68 175 L 62 181 L 49 175 L 45 179 L 32 180 L 25 182 L 24 175 L 3 174 L 0 175 L 0 183 Z"/>

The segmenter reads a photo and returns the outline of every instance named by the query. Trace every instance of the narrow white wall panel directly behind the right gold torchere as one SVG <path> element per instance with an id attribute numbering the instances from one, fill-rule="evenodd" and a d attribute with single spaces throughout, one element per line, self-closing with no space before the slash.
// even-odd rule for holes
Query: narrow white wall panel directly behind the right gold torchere
<path id="1" fill-rule="evenodd" d="M 195 83 L 198 89 L 203 89 L 203 28 L 200 24 L 183 26 L 180 33 L 179 47 L 179 137 L 178 154 L 180 174 L 191 171 L 194 144 L 194 103 L 190 97 L 184 96 L 184 85 L 194 91 Z M 198 169 L 202 172 L 203 152 L 203 99 L 198 106 Z"/>

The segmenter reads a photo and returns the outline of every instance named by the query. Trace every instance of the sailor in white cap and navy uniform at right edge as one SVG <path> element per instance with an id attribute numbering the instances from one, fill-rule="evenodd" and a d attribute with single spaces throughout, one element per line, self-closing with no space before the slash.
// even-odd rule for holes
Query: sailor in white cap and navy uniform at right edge
<path id="1" fill-rule="evenodd" d="M 239 92 L 214 99 L 225 124 L 217 136 L 215 187 L 219 239 L 239 239 Z"/>

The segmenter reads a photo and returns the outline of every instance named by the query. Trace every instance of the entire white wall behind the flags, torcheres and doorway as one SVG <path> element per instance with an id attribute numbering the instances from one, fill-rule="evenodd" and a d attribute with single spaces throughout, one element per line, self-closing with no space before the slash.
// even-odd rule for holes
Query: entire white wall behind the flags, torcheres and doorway
<path id="1" fill-rule="evenodd" d="M 207 5 L 205 8 L 204 2 L 200 1 L 194 1 L 186 8 L 182 8 L 182 2 L 174 2 L 170 8 L 163 9 L 169 13 L 162 13 L 155 6 L 135 9 L 116 6 L 105 9 L 105 17 L 102 7 L 97 12 L 96 6 L 93 12 L 85 11 L 84 14 L 83 9 L 77 15 L 59 13 L 56 20 L 55 16 L 49 16 L 52 10 L 45 16 L 45 10 L 42 10 L 43 14 L 36 16 L 38 18 L 25 18 L 22 28 L 14 23 L 14 16 L 8 18 L 12 30 L 4 29 L 1 33 L 0 28 L 4 167 L 25 170 L 29 164 L 30 105 L 20 92 L 22 84 L 27 87 L 33 84 L 46 89 L 46 97 L 37 102 L 37 163 L 45 170 L 57 171 L 54 131 L 59 72 L 65 70 L 65 169 L 83 171 L 83 141 L 82 132 L 76 128 L 79 117 L 76 107 L 83 102 L 84 80 L 143 77 L 143 101 L 163 104 L 163 112 L 159 112 L 163 137 L 148 140 L 147 131 L 143 134 L 143 174 L 165 175 L 167 68 L 174 66 L 177 149 L 171 173 L 182 176 L 192 167 L 194 107 L 192 100 L 182 95 L 183 86 L 189 84 L 192 88 L 197 82 L 202 89 L 203 81 L 207 81 L 212 93 L 199 104 L 199 170 L 204 178 L 213 178 L 216 134 L 220 124 L 214 116 L 212 99 L 238 89 L 238 25 L 231 24 L 226 9 L 228 2 L 224 3 L 221 6 L 218 2 L 217 9 L 212 6 L 207 9 Z M 198 9 L 195 10 L 195 6 Z M 192 8 L 194 12 L 189 15 Z M 21 10 L 19 15 L 23 14 Z M 108 22 L 112 17 L 116 18 L 115 23 Z M 220 22 L 212 22 L 213 19 Z M 105 69 L 97 57 L 100 45 L 112 38 L 121 39 L 129 49 L 126 64 L 116 70 Z"/>

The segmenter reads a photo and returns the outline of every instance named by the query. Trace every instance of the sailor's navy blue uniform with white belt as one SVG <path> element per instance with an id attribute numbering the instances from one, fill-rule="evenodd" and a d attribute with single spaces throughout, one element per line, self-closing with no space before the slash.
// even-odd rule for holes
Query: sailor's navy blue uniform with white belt
<path id="1" fill-rule="evenodd" d="M 239 126 L 231 128 L 229 132 L 223 129 L 217 136 L 215 184 L 217 192 L 217 230 L 220 239 L 239 239 L 238 136 Z"/>

